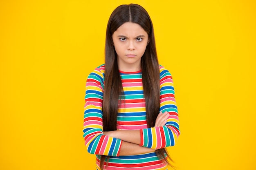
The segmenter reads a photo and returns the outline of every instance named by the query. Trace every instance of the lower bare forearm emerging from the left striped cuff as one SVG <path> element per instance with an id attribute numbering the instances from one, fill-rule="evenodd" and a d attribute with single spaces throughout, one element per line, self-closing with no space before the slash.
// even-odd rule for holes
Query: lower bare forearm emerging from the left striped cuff
<path id="1" fill-rule="evenodd" d="M 137 144 L 132 144 L 130 142 L 123 141 L 120 152 L 119 152 L 119 156 L 137 155 L 137 154 L 144 154 L 144 153 L 149 153 L 154 151 L 155 149 L 146 148 L 143 146 L 139 146 Z"/>

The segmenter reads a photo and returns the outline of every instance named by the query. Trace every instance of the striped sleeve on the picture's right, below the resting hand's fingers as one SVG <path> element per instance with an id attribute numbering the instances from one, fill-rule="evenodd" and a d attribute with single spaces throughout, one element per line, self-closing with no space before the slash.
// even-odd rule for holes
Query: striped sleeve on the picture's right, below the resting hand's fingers
<path id="1" fill-rule="evenodd" d="M 160 67 L 160 112 L 167 111 L 165 126 L 141 129 L 141 144 L 147 148 L 160 149 L 174 146 L 180 135 L 179 117 L 174 96 L 173 79 L 169 71 Z"/>

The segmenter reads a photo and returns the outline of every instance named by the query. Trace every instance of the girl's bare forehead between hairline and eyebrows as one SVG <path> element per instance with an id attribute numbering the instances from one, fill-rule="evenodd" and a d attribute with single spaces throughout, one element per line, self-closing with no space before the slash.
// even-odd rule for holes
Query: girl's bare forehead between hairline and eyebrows
<path id="1" fill-rule="evenodd" d="M 121 34 L 146 34 L 146 31 L 139 25 L 133 22 L 125 22 L 114 32 L 121 33 Z"/>

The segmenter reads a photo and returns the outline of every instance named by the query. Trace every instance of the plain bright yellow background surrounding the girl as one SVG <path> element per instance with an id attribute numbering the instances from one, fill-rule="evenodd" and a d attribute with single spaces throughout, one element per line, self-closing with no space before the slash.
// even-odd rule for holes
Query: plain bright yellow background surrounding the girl
<path id="1" fill-rule="evenodd" d="M 254 0 L 1 0 L 0 169 L 94 170 L 83 142 L 88 74 L 120 4 L 150 14 L 180 114 L 178 170 L 256 169 Z"/>

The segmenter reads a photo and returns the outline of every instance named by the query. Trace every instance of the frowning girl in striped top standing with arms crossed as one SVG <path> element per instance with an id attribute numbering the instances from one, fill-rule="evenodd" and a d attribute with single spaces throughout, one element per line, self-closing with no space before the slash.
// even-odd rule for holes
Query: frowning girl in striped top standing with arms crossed
<path id="1" fill-rule="evenodd" d="M 110 15 L 105 64 L 88 76 L 85 146 L 97 170 L 167 170 L 180 135 L 171 74 L 158 64 L 153 24 L 137 5 Z M 171 160 L 171 159 L 170 159 Z"/>

